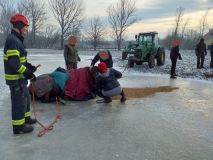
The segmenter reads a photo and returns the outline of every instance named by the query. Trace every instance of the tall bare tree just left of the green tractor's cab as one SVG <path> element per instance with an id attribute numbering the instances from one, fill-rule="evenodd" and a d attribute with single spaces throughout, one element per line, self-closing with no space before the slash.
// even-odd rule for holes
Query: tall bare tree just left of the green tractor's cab
<path id="1" fill-rule="evenodd" d="M 135 12 L 136 5 L 134 0 L 119 0 L 116 5 L 110 5 L 107 9 L 108 20 L 112 26 L 118 50 L 121 49 L 125 31 L 137 21 L 134 15 Z"/>

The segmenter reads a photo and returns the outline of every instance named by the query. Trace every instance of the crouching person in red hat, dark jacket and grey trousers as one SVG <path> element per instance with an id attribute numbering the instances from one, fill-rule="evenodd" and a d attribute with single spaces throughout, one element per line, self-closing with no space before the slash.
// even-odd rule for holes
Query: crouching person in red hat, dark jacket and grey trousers
<path id="1" fill-rule="evenodd" d="M 122 77 L 122 73 L 113 69 L 107 68 L 104 62 L 98 64 L 99 74 L 97 76 L 96 92 L 99 97 L 104 98 L 104 103 L 112 102 L 111 97 L 121 95 L 121 102 L 126 101 L 124 91 L 122 90 L 118 78 Z"/>

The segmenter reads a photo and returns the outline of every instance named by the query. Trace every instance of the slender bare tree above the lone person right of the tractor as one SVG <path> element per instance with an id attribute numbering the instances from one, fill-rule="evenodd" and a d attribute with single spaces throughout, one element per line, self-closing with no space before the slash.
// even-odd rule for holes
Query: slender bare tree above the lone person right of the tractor
<path id="1" fill-rule="evenodd" d="M 175 19 L 175 29 L 174 29 L 174 38 L 177 38 L 179 36 L 179 28 L 183 20 L 183 14 L 184 14 L 184 8 L 179 7 L 177 8 L 177 13 L 176 13 L 176 19 Z"/>

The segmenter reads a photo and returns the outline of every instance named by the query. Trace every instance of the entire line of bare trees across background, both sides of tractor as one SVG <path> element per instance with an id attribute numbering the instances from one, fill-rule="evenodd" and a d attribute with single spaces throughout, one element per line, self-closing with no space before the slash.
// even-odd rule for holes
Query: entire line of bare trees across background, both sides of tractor
<path id="1" fill-rule="evenodd" d="M 10 33 L 10 16 L 14 13 L 25 14 L 30 20 L 30 30 L 26 37 L 29 48 L 58 48 L 63 49 L 69 35 L 79 39 L 80 48 L 124 48 L 127 29 L 136 23 L 135 0 L 118 0 L 110 4 L 107 9 L 108 21 L 94 16 L 86 19 L 83 0 L 0 0 L 0 46 Z M 169 48 L 171 39 L 182 39 L 184 48 L 192 48 L 194 43 L 203 36 L 208 27 L 208 8 L 200 19 L 199 30 L 187 29 L 190 17 L 184 18 L 184 8 L 179 7 L 176 13 L 174 28 L 168 31 L 161 40 L 164 47 Z M 110 31 L 106 26 L 110 26 Z M 143 32 L 143 31 L 141 31 Z M 107 41 L 105 37 L 111 37 Z"/>

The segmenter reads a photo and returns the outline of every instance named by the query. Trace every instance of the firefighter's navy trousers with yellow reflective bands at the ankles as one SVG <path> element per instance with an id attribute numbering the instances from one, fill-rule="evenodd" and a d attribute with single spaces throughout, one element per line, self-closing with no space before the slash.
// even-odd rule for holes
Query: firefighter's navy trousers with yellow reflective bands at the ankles
<path id="1" fill-rule="evenodd" d="M 25 118 L 30 117 L 30 94 L 25 84 L 9 85 L 12 102 L 13 126 L 25 123 Z"/>

